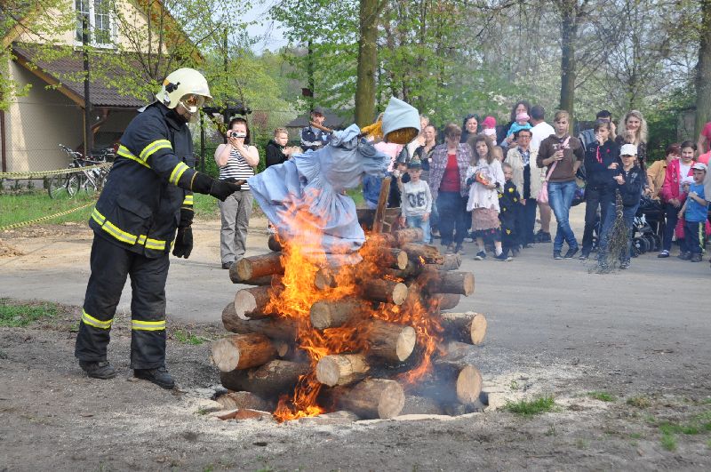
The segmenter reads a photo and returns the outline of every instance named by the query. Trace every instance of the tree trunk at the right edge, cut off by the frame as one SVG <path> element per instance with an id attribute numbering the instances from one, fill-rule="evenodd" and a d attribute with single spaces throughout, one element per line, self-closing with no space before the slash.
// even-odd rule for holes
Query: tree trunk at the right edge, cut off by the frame
<path id="1" fill-rule="evenodd" d="M 696 66 L 696 136 L 711 121 L 711 1 L 701 0 L 699 62 Z M 699 152 L 704 152 L 699 150 Z"/>

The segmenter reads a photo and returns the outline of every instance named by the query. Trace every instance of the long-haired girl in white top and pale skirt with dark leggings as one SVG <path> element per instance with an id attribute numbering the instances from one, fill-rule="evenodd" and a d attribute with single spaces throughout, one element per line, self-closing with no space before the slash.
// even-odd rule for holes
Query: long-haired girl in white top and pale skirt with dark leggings
<path id="1" fill-rule="evenodd" d="M 499 190 L 504 187 L 504 172 L 501 163 L 494 156 L 491 140 L 483 135 L 472 136 L 468 140 L 474 150 L 474 159 L 467 169 L 469 200 L 467 212 L 472 212 L 472 231 L 476 238 L 479 252 L 474 260 L 486 258 L 483 238 L 494 240 L 496 260 L 511 260 L 501 250 L 501 223 L 499 221 Z"/>

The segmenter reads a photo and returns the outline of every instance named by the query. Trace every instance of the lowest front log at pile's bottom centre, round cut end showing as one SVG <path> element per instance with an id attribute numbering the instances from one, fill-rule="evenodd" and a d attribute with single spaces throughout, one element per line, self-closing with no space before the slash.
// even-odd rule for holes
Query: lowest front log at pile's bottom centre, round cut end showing
<path id="1" fill-rule="evenodd" d="M 405 403 L 403 388 L 395 380 L 366 379 L 353 387 L 332 388 L 329 395 L 339 409 L 363 419 L 394 418 Z"/>

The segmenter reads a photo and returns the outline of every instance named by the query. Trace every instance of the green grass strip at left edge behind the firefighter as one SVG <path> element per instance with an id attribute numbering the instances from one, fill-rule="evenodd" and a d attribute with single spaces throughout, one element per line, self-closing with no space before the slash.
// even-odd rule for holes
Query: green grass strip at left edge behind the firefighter
<path id="1" fill-rule="evenodd" d="M 40 189 L 15 195 L 0 195 L 0 227 L 65 212 L 72 208 L 92 203 L 93 200 L 93 196 L 86 196 L 81 192 L 74 198 L 65 196 L 52 199 L 46 190 Z M 61 224 L 68 221 L 87 221 L 92 210 L 93 207 L 90 205 L 83 210 L 53 218 L 52 220 L 46 220 L 43 223 Z"/>

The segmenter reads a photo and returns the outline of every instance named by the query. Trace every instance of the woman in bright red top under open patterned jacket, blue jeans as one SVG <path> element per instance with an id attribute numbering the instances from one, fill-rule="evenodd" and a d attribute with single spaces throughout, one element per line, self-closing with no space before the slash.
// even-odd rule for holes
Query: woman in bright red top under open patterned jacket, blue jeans
<path id="1" fill-rule="evenodd" d="M 432 152 L 429 171 L 429 188 L 439 212 L 441 244 L 450 252 L 461 252 L 467 234 L 466 174 L 472 161 L 472 148 L 460 143 L 460 137 L 461 128 L 447 124 L 446 142 Z"/>

